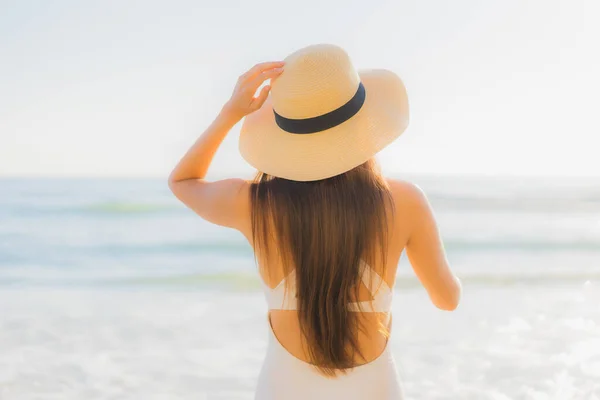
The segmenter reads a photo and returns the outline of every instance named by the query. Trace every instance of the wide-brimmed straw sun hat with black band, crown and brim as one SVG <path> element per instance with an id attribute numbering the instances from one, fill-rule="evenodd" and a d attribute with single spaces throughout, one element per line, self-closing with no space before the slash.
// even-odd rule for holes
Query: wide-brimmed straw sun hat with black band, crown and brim
<path id="1" fill-rule="evenodd" d="M 393 72 L 357 71 L 342 48 L 329 44 L 284 61 L 269 97 L 240 131 L 240 153 L 259 171 L 294 181 L 329 178 L 364 163 L 406 129 L 406 89 Z"/>

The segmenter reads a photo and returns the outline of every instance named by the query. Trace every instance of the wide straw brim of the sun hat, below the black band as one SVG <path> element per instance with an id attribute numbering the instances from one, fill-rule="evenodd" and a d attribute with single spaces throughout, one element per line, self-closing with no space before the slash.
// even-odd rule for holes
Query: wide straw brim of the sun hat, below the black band
<path id="1" fill-rule="evenodd" d="M 369 160 L 408 126 L 408 99 L 402 80 L 391 71 L 360 70 L 358 75 L 366 92 L 361 109 L 342 124 L 316 133 L 281 129 L 269 96 L 242 124 L 242 157 L 261 172 L 294 181 L 330 178 Z"/>

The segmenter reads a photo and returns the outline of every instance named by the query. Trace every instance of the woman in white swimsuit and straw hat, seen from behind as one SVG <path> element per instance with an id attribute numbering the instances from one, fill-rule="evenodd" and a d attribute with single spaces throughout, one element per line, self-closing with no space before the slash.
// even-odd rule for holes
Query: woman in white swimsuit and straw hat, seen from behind
<path id="1" fill-rule="evenodd" d="M 243 117 L 240 151 L 256 179 L 207 182 Z M 357 72 L 341 48 L 313 45 L 243 74 L 173 170 L 183 203 L 254 249 L 270 335 L 257 399 L 402 398 L 387 344 L 404 249 L 433 303 L 457 307 L 461 286 L 425 195 L 373 159 L 407 124 L 394 73 Z"/>

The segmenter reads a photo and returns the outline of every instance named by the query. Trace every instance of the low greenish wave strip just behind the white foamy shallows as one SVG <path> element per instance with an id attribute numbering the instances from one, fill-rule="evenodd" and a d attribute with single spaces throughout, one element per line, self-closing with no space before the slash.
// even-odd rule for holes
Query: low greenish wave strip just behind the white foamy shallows
<path id="1" fill-rule="evenodd" d="M 244 267 L 242 266 L 244 265 Z M 198 289 L 260 289 L 261 280 L 255 264 L 248 260 L 242 264 L 179 268 L 144 268 L 142 266 L 121 265 L 105 268 L 64 268 L 42 265 L 13 265 L 0 268 L 0 286 L 42 285 L 42 286 L 91 286 L 121 288 L 198 288 Z M 600 265 L 583 263 L 574 268 L 547 268 L 546 264 L 532 264 L 531 268 L 479 269 L 458 264 L 455 269 L 465 285 L 509 286 L 509 285 L 554 285 L 584 284 L 592 282 L 600 285 Z M 421 284 L 410 268 L 398 270 L 396 287 L 415 288 Z"/>

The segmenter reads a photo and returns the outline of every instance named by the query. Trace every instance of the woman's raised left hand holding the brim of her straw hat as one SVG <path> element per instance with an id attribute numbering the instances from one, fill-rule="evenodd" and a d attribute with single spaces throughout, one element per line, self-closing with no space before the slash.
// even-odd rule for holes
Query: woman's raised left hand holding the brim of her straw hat
<path id="1" fill-rule="evenodd" d="M 267 99 L 271 86 L 265 85 L 256 97 L 254 94 L 264 81 L 278 77 L 283 72 L 283 65 L 283 61 L 260 63 L 241 75 L 221 113 L 237 122 L 258 110 Z"/>

